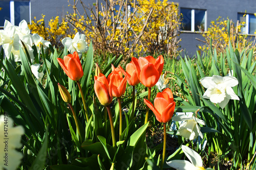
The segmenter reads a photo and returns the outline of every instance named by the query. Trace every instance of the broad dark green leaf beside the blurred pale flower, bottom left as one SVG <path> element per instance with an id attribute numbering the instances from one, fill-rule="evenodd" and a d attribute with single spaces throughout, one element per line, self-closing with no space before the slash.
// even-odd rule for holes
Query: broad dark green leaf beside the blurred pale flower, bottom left
<path id="1" fill-rule="evenodd" d="M 44 169 L 45 163 L 46 163 L 46 156 L 47 156 L 47 148 L 48 148 L 47 145 L 48 145 L 48 131 L 46 131 L 44 143 L 42 144 L 41 149 L 36 155 L 36 159 L 34 160 L 33 164 L 29 168 L 30 170 Z"/>

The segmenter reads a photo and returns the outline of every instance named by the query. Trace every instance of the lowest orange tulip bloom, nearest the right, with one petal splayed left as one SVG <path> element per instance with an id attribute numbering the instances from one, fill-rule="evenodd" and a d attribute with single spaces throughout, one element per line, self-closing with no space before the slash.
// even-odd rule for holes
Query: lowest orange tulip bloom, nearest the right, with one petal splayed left
<path id="1" fill-rule="evenodd" d="M 144 99 L 145 104 L 154 112 L 160 123 L 167 123 L 174 114 L 175 102 L 173 93 L 169 88 L 158 92 L 153 104 Z"/>

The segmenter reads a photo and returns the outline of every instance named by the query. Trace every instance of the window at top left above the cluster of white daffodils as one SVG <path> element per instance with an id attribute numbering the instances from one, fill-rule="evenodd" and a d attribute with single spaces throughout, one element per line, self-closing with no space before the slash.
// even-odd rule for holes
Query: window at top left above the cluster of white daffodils
<path id="1" fill-rule="evenodd" d="M 15 26 L 23 19 L 30 22 L 30 1 L 0 0 L 0 7 L 0 27 L 4 27 L 5 20 L 9 20 Z"/>

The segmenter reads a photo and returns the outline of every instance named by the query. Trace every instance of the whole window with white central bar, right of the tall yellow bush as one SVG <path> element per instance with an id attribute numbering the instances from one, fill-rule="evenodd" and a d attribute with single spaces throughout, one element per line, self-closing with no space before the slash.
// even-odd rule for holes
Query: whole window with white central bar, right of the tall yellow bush
<path id="1" fill-rule="evenodd" d="M 206 10 L 180 8 L 183 31 L 206 31 Z M 199 29 L 199 28 L 200 29 Z"/>

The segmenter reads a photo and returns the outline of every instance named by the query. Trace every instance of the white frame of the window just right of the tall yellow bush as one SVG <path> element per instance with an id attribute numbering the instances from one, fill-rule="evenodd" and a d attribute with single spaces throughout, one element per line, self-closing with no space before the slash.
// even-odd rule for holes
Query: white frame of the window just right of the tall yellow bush
<path id="1" fill-rule="evenodd" d="M 183 8 L 183 7 L 181 7 L 180 8 L 180 13 L 182 13 L 181 9 L 188 9 L 188 10 L 191 11 L 191 20 L 190 20 L 191 21 L 191 23 L 190 23 L 191 24 L 191 28 L 190 28 L 190 30 L 182 30 L 182 28 L 181 28 L 181 32 L 189 32 L 189 33 L 191 33 L 191 32 L 195 32 L 195 33 L 200 32 L 201 33 L 201 31 L 195 31 L 195 11 L 196 10 L 201 10 L 201 11 L 205 12 L 204 13 L 204 15 L 205 15 L 205 21 L 204 21 L 204 28 L 205 29 L 204 29 L 204 32 L 207 31 L 207 10 L 205 10 L 205 9 L 194 9 L 194 8 Z"/>

